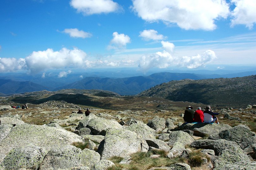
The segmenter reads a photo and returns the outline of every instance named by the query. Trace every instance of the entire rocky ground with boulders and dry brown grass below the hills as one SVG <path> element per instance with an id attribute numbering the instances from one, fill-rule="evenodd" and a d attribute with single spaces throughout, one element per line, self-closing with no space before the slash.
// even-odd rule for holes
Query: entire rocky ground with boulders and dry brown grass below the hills
<path id="1" fill-rule="evenodd" d="M 183 124 L 188 103 L 121 103 L 103 109 L 46 101 L 21 110 L 2 102 L 0 169 L 256 169 L 253 106 L 214 110 L 221 124 L 211 125 Z M 90 116 L 76 113 L 87 107 Z"/>

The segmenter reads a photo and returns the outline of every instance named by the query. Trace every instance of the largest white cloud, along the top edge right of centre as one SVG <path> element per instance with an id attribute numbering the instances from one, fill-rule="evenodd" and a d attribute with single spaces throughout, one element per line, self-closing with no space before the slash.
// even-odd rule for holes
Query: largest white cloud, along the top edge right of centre
<path id="1" fill-rule="evenodd" d="M 148 22 L 177 24 L 185 30 L 214 30 L 215 20 L 229 15 L 225 0 L 132 0 L 132 9 Z"/>

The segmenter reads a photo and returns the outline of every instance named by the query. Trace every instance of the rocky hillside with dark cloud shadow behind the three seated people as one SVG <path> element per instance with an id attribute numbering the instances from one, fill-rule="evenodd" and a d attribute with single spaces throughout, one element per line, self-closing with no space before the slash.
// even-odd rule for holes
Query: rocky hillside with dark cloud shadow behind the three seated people
<path id="1" fill-rule="evenodd" d="M 138 96 L 162 97 L 218 106 L 244 107 L 256 103 L 256 75 L 205 80 L 185 79 L 162 83 Z"/>

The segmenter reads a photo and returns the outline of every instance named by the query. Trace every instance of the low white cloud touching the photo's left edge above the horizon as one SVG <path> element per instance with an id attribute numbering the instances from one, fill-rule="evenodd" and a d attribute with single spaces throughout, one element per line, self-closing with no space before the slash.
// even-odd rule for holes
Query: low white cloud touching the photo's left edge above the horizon
<path id="1" fill-rule="evenodd" d="M 12 72 L 26 69 L 25 59 L 0 58 L 0 72 Z"/>

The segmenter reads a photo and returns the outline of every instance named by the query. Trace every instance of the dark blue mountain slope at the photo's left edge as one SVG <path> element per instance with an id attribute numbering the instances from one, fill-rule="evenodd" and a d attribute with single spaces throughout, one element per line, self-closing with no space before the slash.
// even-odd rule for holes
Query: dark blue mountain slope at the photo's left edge
<path id="1" fill-rule="evenodd" d="M 48 90 L 48 88 L 30 81 L 17 82 L 13 80 L 0 79 L 0 93 L 15 94 L 40 90 Z"/>

